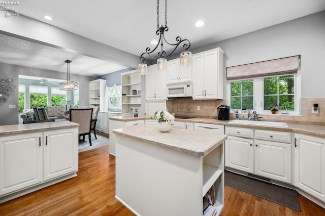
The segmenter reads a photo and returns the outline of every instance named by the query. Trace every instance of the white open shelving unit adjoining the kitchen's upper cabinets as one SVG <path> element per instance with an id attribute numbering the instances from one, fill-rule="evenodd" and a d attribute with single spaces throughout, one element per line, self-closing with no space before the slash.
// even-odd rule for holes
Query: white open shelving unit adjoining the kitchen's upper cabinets
<path id="1" fill-rule="evenodd" d="M 138 70 L 122 73 L 122 113 L 138 114 L 142 113 L 142 81 Z"/>

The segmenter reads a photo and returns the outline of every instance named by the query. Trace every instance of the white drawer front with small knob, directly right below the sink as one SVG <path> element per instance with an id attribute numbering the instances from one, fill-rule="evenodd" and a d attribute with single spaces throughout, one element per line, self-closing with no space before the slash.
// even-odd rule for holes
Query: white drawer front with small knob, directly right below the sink
<path id="1" fill-rule="evenodd" d="M 255 129 L 255 139 L 291 143 L 291 133 Z"/>

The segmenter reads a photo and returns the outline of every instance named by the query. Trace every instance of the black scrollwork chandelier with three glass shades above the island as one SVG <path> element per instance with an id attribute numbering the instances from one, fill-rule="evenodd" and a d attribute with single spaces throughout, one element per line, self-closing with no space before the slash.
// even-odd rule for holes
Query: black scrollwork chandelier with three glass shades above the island
<path id="1" fill-rule="evenodd" d="M 151 58 L 152 60 L 155 60 L 157 58 L 154 58 L 152 56 L 152 53 L 159 47 L 159 45 L 161 46 L 161 50 L 158 52 L 157 56 L 157 69 L 158 71 L 166 71 L 167 68 L 167 59 L 166 57 L 169 57 L 170 55 L 172 55 L 175 50 L 178 48 L 179 45 L 183 44 L 183 49 L 184 52 L 181 53 L 181 65 L 183 67 L 187 67 L 190 66 L 190 59 L 191 59 L 191 52 L 188 51 L 189 47 L 190 47 L 190 41 L 188 39 L 182 39 L 180 36 L 176 37 L 176 44 L 171 44 L 169 43 L 166 38 L 165 38 L 165 32 L 168 31 L 168 27 L 167 27 L 167 0 L 165 0 L 165 26 L 161 25 L 159 27 L 159 0 L 157 0 L 157 30 L 156 30 L 156 35 L 159 35 L 159 41 L 157 46 L 150 51 L 150 48 L 148 47 L 146 49 L 146 52 L 144 52 L 143 54 L 141 54 L 140 56 L 140 61 L 141 63 L 139 64 L 139 74 L 141 75 L 145 75 L 147 74 L 147 64 L 144 62 L 145 58 L 144 56 L 147 55 L 149 58 Z M 164 43 L 170 45 L 170 46 L 174 46 L 173 51 L 167 55 L 167 52 L 164 50 L 163 46 Z"/>

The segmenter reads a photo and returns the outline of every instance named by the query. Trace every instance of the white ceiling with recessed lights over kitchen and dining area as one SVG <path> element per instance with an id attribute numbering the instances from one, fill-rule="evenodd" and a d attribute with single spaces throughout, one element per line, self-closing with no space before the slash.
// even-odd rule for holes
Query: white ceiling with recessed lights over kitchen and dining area
<path id="1" fill-rule="evenodd" d="M 159 25 L 164 25 L 165 1 L 160 1 L 159 8 Z M 150 41 L 158 39 L 156 1 L 25 0 L 19 1 L 15 10 L 137 56 L 147 47 L 152 50 Z M 170 0 L 165 37 L 172 43 L 176 36 L 189 39 L 191 50 L 323 10 L 325 0 Z M 44 15 L 53 20 L 45 20 Z M 205 25 L 195 27 L 198 20 Z M 6 35 L 0 37 L 0 62 L 64 72 L 62 56 L 74 58 L 71 73 L 81 75 L 98 76 L 126 68 L 123 63 L 117 65 Z"/>

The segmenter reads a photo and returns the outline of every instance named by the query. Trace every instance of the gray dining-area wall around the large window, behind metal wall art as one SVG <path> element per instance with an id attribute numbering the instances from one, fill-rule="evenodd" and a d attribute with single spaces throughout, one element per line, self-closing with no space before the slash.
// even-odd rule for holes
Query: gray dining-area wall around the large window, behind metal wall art
<path id="1" fill-rule="evenodd" d="M 24 66 L 0 63 L 0 79 L 13 78 L 16 86 L 15 95 L 10 97 L 7 103 L 0 105 L 0 125 L 18 124 L 18 75 L 38 76 L 55 79 L 67 79 L 67 73 L 50 70 L 30 68 Z M 90 76 L 70 74 L 70 79 L 78 81 L 79 105 L 89 106 L 89 81 L 93 80 Z M 15 104 L 16 108 L 9 108 L 9 104 Z"/>

